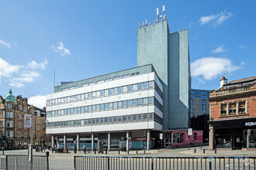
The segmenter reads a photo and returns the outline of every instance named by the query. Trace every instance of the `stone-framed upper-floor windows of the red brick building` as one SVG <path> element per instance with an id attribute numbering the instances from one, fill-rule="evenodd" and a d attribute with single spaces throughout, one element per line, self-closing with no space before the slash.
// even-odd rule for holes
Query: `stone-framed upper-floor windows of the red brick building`
<path id="1" fill-rule="evenodd" d="M 220 116 L 246 114 L 245 101 L 220 105 Z"/>

